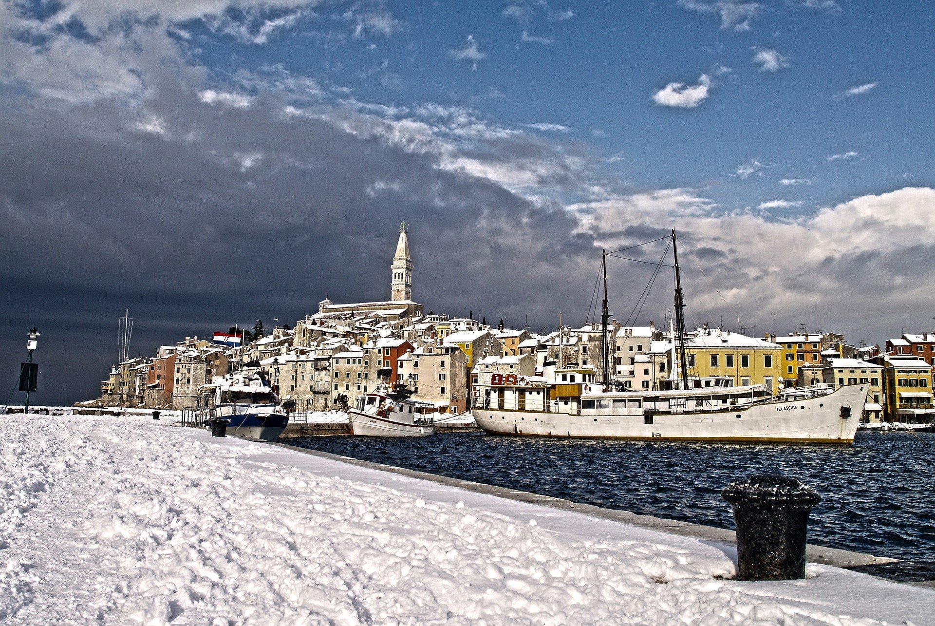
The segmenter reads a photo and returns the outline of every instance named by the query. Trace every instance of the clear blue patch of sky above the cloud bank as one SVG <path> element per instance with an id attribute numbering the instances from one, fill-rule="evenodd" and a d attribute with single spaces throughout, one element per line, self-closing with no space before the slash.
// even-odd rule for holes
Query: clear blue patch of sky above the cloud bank
<path id="1" fill-rule="evenodd" d="M 199 58 L 229 70 L 281 64 L 371 103 L 561 125 L 539 133 L 582 142 L 611 161 L 603 171 L 620 184 L 704 188 L 726 211 L 800 202 L 773 211 L 788 217 L 930 184 L 932 7 L 813 4 L 757 4 L 749 22 L 725 25 L 714 3 L 700 2 L 401 2 L 387 5 L 392 34 L 337 43 L 309 36 L 341 9 L 324 7 L 262 45 L 202 28 Z M 483 58 L 456 60 L 468 37 Z M 756 63 L 763 52 L 778 62 Z M 654 102 L 670 82 L 704 74 L 713 84 L 698 106 Z"/>

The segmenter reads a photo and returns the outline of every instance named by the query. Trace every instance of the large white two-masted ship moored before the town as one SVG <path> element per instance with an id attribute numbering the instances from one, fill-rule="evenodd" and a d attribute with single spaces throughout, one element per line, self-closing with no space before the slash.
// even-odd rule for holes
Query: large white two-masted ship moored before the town
<path id="1" fill-rule="evenodd" d="M 852 444 L 868 385 L 802 390 L 774 397 L 762 385 L 690 377 L 675 231 L 675 342 L 671 379 L 662 389 L 618 388 L 610 375 L 606 254 L 603 264 L 602 376 L 546 363 L 538 376 L 475 371 L 471 413 L 487 432 L 515 436 L 646 441 Z"/>

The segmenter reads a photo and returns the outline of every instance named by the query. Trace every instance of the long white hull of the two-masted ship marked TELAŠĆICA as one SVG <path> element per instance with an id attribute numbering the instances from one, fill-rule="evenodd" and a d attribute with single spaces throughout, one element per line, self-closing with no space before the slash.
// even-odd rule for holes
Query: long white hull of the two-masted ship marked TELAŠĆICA
<path id="1" fill-rule="evenodd" d="M 498 435 L 762 444 L 854 442 L 866 386 L 844 386 L 818 398 L 767 402 L 742 409 L 652 415 L 611 411 L 568 415 L 474 409 L 479 428 Z M 843 417 L 841 407 L 848 407 Z M 648 422 L 652 423 L 648 423 Z"/>

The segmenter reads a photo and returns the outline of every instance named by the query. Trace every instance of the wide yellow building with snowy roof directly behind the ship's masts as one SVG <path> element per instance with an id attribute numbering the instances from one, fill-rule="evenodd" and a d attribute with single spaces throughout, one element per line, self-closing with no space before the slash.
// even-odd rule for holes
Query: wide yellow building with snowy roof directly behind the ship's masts
<path id="1" fill-rule="evenodd" d="M 763 385 L 772 393 L 779 391 L 783 380 L 783 351 L 778 343 L 720 328 L 698 329 L 685 342 L 689 376 L 726 376 L 734 386 Z"/>

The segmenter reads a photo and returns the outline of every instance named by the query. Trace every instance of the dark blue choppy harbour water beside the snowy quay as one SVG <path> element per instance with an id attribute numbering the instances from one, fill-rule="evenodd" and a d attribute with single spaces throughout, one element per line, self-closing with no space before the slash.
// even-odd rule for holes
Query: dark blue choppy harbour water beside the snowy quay
<path id="1" fill-rule="evenodd" d="M 313 437 L 302 447 L 645 515 L 733 529 L 721 489 L 784 473 L 822 496 L 809 541 L 935 560 L 935 434 L 858 432 L 849 447 L 493 437 Z"/>

